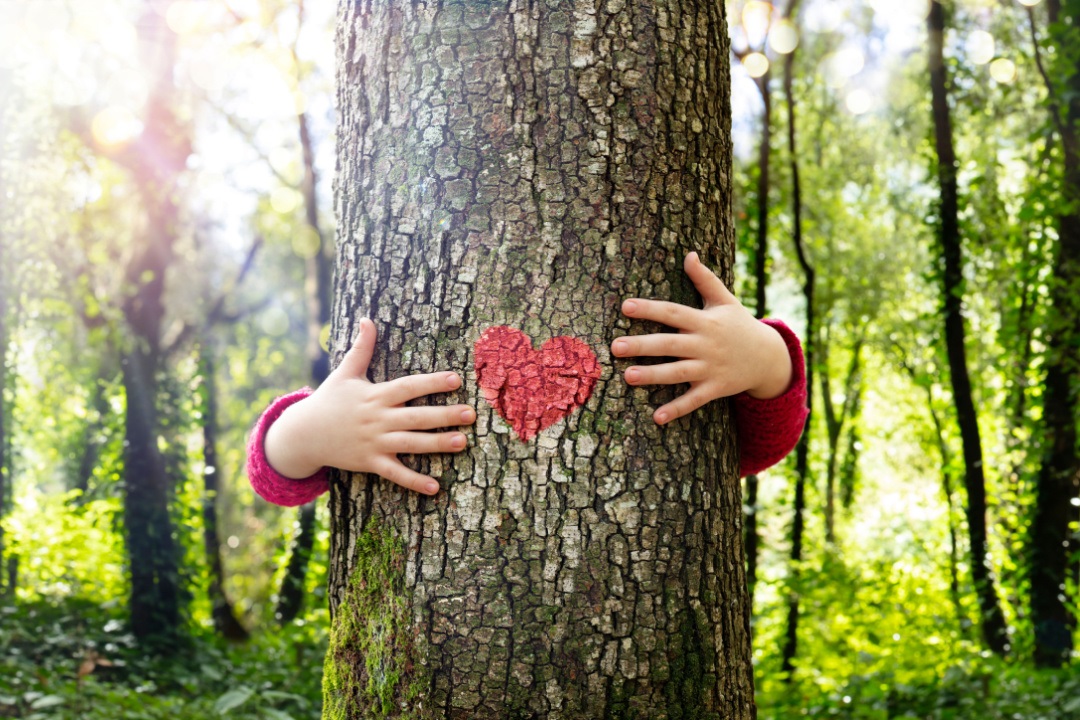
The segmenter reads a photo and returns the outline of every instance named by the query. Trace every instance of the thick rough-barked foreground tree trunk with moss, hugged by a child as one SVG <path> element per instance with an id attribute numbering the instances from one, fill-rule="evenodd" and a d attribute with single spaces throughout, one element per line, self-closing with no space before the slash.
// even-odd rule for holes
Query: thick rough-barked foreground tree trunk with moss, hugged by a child
<path id="1" fill-rule="evenodd" d="M 330 489 L 328 718 L 754 716 L 727 405 L 657 427 L 615 337 L 626 297 L 731 280 L 723 3 L 346 2 L 334 341 L 370 316 L 375 380 L 455 369 L 471 447 L 409 460 L 428 499 Z M 598 356 L 584 406 L 523 441 L 474 342 L 522 328 Z"/>

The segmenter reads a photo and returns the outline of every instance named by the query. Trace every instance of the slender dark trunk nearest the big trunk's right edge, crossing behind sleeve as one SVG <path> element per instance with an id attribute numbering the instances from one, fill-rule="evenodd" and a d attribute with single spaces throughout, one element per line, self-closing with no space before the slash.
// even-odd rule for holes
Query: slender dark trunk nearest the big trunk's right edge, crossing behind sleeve
<path id="1" fill-rule="evenodd" d="M 769 286 L 769 165 L 772 155 L 772 93 L 769 91 L 769 73 L 758 79 L 757 89 L 761 93 L 761 147 L 758 150 L 757 176 L 757 248 L 754 252 L 754 277 L 757 305 L 755 312 L 760 320 L 768 315 L 766 293 Z M 746 586 L 750 589 L 751 612 L 754 610 L 754 587 L 757 585 L 757 555 L 761 543 L 757 531 L 757 475 L 746 476 Z"/>

